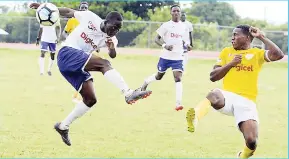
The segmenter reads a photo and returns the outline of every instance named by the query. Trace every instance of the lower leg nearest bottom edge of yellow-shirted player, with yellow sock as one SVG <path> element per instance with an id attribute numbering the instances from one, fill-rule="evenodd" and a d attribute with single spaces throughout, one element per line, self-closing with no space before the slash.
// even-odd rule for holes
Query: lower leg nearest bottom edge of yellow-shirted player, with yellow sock
<path id="1" fill-rule="evenodd" d="M 239 123 L 240 131 L 243 133 L 246 145 L 238 153 L 239 158 L 249 158 L 253 156 L 257 148 L 258 124 L 255 120 L 247 120 Z"/>

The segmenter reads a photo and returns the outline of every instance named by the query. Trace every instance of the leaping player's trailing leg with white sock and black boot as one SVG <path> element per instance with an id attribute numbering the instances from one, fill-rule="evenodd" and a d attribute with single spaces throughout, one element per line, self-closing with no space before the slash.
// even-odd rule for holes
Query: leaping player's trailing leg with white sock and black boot
<path id="1" fill-rule="evenodd" d="M 96 103 L 92 80 L 83 83 L 80 94 L 83 101 L 77 103 L 72 112 L 61 123 L 56 123 L 54 126 L 55 130 L 60 134 L 62 141 L 68 146 L 71 145 L 68 135 L 70 124 L 84 115 Z"/>

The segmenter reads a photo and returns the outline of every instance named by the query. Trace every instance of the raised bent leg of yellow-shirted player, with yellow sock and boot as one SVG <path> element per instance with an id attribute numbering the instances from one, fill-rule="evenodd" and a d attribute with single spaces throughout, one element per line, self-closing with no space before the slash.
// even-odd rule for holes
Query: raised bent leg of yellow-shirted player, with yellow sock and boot
<path id="1" fill-rule="evenodd" d="M 186 119 L 188 124 L 188 131 L 195 131 L 198 121 L 208 114 L 211 107 L 219 110 L 224 106 L 225 99 L 220 90 L 214 89 L 209 92 L 207 97 L 203 99 L 195 108 L 190 108 L 187 111 Z"/>

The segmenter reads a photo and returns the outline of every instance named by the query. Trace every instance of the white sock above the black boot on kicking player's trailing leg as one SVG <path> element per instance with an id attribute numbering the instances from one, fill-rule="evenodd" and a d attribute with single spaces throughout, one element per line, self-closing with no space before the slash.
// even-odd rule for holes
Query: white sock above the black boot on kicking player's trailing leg
<path id="1" fill-rule="evenodd" d="M 76 104 L 72 112 L 61 122 L 59 129 L 66 130 L 69 128 L 69 125 L 76 120 L 77 118 L 84 115 L 90 108 L 86 106 L 83 101 Z"/>

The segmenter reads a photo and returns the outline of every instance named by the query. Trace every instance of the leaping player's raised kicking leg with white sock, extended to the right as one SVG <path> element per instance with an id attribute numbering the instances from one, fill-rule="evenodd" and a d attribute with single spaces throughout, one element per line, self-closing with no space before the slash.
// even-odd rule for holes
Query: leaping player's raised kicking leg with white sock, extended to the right
<path id="1" fill-rule="evenodd" d="M 84 68 L 85 71 L 99 71 L 102 72 L 104 77 L 114 84 L 125 96 L 125 101 L 128 104 L 135 103 L 139 99 L 148 97 L 152 92 L 151 91 L 141 91 L 141 90 L 131 90 L 123 77 L 119 74 L 118 71 L 113 69 L 110 65 L 110 62 L 101 57 L 91 55 L 87 65 Z"/>

